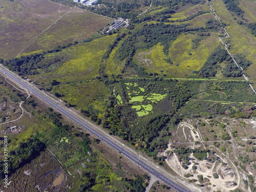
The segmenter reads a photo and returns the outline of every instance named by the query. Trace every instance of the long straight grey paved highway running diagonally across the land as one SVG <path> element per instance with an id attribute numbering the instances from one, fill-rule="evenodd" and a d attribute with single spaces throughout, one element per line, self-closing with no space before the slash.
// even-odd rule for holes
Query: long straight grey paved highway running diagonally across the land
<path id="1" fill-rule="evenodd" d="M 21 87 L 23 87 L 26 90 L 30 91 L 34 96 L 38 97 L 40 100 L 44 101 L 45 103 L 50 105 L 52 108 L 54 108 L 55 110 L 59 111 L 62 115 L 67 116 L 70 120 L 72 120 L 75 123 L 77 123 L 80 126 L 82 126 L 84 129 L 89 131 L 91 134 L 93 134 L 94 136 L 98 137 L 101 141 L 105 142 L 106 144 L 108 144 L 109 146 L 114 148 L 116 151 L 120 152 L 123 156 L 125 156 L 126 158 L 132 160 L 137 165 L 139 165 L 140 167 L 144 168 L 147 172 L 149 172 L 150 174 L 156 176 L 158 179 L 162 180 L 163 182 L 165 182 L 170 187 L 174 188 L 175 190 L 177 190 L 179 192 L 191 192 L 191 190 L 188 190 L 185 187 L 177 184 L 172 179 L 170 179 L 170 178 L 166 177 L 165 175 L 163 175 L 162 173 L 160 173 L 153 166 L 148 165 L 147 163 L 145 163 L 144 161 L 142 161 L 141 159 L 139 159 L 138 157 L 136 157 L 135 155 L 133 155 L 129 151 L 125 150 L 119 144 L 117 144 L 114 141 L 112 141 L 110 138 L 104 136 L 104 134 L 99 133 L 98 131 L 93 129 L 91 126 L 89 126 L 88 124 L 86 124 L 85 122 L 80 120 L 79 118 L 77 118 L 74 115 L 72 115 L 67 109 L 64 109 L 64 107 L 61 107 L 58 104 L 56 104 L 55 102 L 51 101 L 48 98 L 49 96 L 46 97 L 46 94 L 44 95 L 42 92 L 37 91 L 35 88 L 33 88 L 33 86 L 31 86 L 30 84 L 28 84 L 27 82 L 22 80 L 17 75 L 9 72 L 9 70 L 4 69 L 3 67 L 0 67 L 0 73 L 2 73 L 3 76 L 7 76 L 8 78 L 12 79 L 14 82 L 19 84 Z"/>

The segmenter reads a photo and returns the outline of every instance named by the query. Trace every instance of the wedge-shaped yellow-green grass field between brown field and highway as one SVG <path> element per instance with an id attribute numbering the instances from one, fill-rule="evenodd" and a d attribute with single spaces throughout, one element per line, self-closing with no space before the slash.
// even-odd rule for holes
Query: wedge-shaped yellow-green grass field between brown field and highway
<path id="1" fill-rule="evenodd" d="M 65 58 L 65 63 L 44 75 L 34 75 L 30 78 L 38 83 L 50 84 L 52 79 L 59 82 L 77 82 L 90 80 L 98 75 L 101 57 L 111 44 L 115 35 L 108 35 L 91 42 L 83 42 L 63 49 L 58 53 L 50 53 L 45 57 L 49 60 Z"/>

